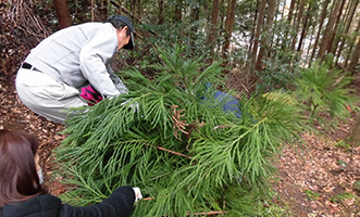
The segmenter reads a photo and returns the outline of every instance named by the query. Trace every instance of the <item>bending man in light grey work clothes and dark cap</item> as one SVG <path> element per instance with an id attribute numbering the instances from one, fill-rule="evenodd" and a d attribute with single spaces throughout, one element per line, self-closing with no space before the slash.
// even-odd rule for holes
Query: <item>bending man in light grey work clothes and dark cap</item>
<path id="1" fill-rule="evenodd" d="M 105 23 L 52 34 L 30 51 L 17 72 L 20 100 L 35 113 L 63 123 L 70 107 L 89 104 L 80 97 L 84 87 L 100 93 L 98 100 L 127 93 L 110 63 L 120 49 L 134 48 L 133 33 L 128 17 L 113 15 Z"/>

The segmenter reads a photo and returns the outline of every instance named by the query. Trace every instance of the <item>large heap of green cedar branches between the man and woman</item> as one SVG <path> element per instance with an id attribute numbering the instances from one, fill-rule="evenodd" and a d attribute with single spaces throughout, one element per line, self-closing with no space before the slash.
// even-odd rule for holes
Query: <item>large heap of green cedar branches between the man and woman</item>
<path id="1" fill-rule="evenodd" d="M 296 143 L 307 129 L 306 94 L 244 98 L 237 118 L 207 86 L 223 87 L 220 63 L 186 59 L 178 46 L 158 51 L 162 62 L 150 66 L 153 79 L 122 72 L 129 94 L 74 110 L 55 150 L 74 187 L 62 199 L 88 205 L 128 184 L 152 197 L 139 201 L 134 216 L 262 215 L 259 197 L 270 192 L 281 144 Z"/>

